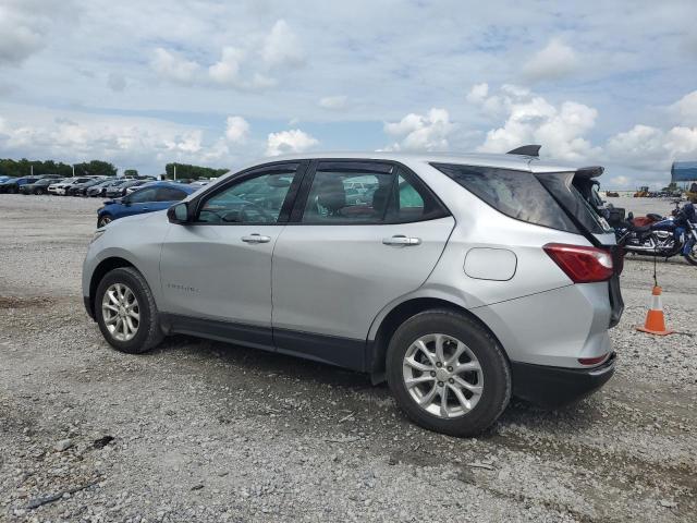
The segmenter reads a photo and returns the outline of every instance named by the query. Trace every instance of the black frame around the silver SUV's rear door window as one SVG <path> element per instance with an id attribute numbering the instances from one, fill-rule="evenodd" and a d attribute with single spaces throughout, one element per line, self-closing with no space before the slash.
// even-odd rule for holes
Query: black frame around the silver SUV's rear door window
<path id="1" fill-rule="evenodd" d="M 309 192 L 313 186 L 313 182 L 315 181 L 315 174 L 319 170 L 321 166 L 322 169 L 325 165 L 329 165 L 329 169 L 333 169 L 337 172 L 342 172 L 342 170 L 346 171 L 360 171 L 365 170 L 366 172 L 376 172 L 379 174 L 392 174 L 394 177 L 394 181 L 398 180 L 399 175 L 402 174 L 404 180 L 408 182 L 414 190 L 426 196 L 427 198 L 431 198 L 436 208 L 440 211 L 436 214 L 433 217 L 428 219 L 419 219 L 419 220 L 382 220 L 382 221 L 328 221 L 328 222 L 316 222 L 309 223 L 304 222 L 303 215 L 305 212 L 305 206 L 307 205 L 307 198 L 309 197 Z M 355 166 L 355 167 L 354 167 Z M 374 166 L 378 166 L 376 169 Z M 380 170 L 380 167 L 384 169 Z M 389 167 L 389 170 L 386 169 Z M 424 202 L 426 203 L 426 202 Z M 288 221 L 289 226 L 393 226 L 400 223 L 420 223 L 424 221 L 439 220 L 441 218 L 447 218 L 452 216 L 450 209 L 445 206 L 445 204 L 438 197 L 438 195 L 428 186 L 424 180 L 419 178 L 412 169 L 406 167 L 404 163 L 394 161 L 394 160 L 381 160 L 381 159 L 370 159 L 370 158 L 314 158 L 307 171 L 305 172 L 303 183 L 299 187 L 299 194 L 295 198 L 295 204 L 293 205 L 293 209 L 291 210 L 291 216 Z"/>

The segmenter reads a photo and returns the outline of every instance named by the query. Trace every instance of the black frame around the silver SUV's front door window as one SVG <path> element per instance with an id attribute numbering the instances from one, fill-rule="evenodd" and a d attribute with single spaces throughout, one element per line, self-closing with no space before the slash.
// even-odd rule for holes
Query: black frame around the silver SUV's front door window
<path id="1" fill-rule="evenodd" d="M 291 166 L 295 167 L 295 174 L 293 181 L 291 182 L 291 186 L 285 194 L 285 198 L 283 199 L 283 204 L 281 205 L 281 211 L 279 214 L 279 219 L 276 223 L 208 223 L 208 222 L 199 222 L 192 221 L 187 223 L 187 226 L 211 226 L 211 227 L 249 227 L 249 226 L 259 226 L 259 227 L 268 227 L 268 226 L 280 226 L 285 224 L 289 221 L 291 209 L 293 208 L 293 204 L 297 198 L 297 193 L 299 185 L 307 173 L 307 167 L 309 161 L 307 160 L 283 160 L 283 161 L 272 161 L 269 163 L 262 163 L 260 166 L 254 166 L 243 171 L 236 172 L 232 174 L 229 179 L 223 181 L 222 183 L 217 183 L 209 187 L 209 190 L 205 191 L 203 194 L 196 196 L 191 199 L 187 204 L 192 206 L 191 216 L 198 216 L 198 212 L 201 210 L 201 207 L 208 202 L 210 198 L 216 196 L 217 194 L 227 191 L 232 185 L 236 185 L 237 183 L 242 183 L 246 180 L 250 180 L 256 177 L 260 177 L 273 171 L 284 171 L 288 172 L 291 170 Z"/>

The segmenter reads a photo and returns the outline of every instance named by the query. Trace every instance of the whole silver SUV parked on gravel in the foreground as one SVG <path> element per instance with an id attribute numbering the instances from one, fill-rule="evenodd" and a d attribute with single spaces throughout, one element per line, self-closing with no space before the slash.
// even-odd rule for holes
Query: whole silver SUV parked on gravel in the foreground
<path id="1" fill-rule="evenodd" d="M 120 351 L 182 332 L 298 355 L 475 435 L 511 394 L 560 405 L 614 372 L 621 256 L 573 185 L 601 172 L 521 154 L 273 159 L 97 230 L 85 306 Z"/>

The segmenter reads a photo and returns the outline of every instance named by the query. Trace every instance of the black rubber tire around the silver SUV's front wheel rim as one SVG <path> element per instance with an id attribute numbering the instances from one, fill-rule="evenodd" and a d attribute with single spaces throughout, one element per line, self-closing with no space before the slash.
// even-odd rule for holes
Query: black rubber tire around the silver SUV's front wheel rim
<path id="1" fill-rule="evenodd" d="M 140 315 L 138 329 L 135 337 L 129 341 L 115 339 L 105 323 L 101 303 L 105 293 L 114 283 L 127 287 L 138 301 Z M 164 338 L 152 292 L 143 275 L 132 267 L 113 269 L 101 279 L 95 294 L 95 317 L 107 342 L 121 352 L 142 354 L 158 345 Z"/>

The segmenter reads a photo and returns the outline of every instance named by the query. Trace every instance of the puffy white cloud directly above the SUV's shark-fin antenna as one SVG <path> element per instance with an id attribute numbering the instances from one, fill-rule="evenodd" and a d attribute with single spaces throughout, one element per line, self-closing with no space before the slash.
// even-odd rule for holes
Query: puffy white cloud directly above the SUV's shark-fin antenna
<path id="1" fill-rule="evenodd" d="M 591 107 L 575 101 L 554 106 L 513 85 L 502 86 L 499 95 L 479 99 L 485 111 L 491 99 L 498 111 L 505 112 L 506 120 L 487 133 L 478 150 L 505 153 L 525 144 L 541 144 L 547 154 L 564 160 L 586 159 L 600 153 L 586 138 L 598 118 Z"/>

